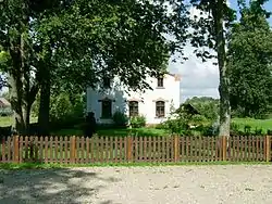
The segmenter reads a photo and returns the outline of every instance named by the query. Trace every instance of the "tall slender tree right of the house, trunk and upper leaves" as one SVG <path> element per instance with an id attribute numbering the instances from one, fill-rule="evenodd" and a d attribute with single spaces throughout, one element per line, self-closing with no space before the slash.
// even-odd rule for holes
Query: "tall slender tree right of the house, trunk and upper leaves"
<path id="1" fill-rule="evenodd" d="M 225 0 L 191 0 L 191 3 L 201 11 L 200 17 L 193 22 L 193 40 L 195 47 L 208 47 L 217 52 L 220 73 L 220 136 L 230 136 L 231 104 L 230 77 L 226 67 L 225 30 L 234 21 L 234 11 Z M 203 16 L 206 15 L 206 16 Z M 208 51 L 197 52 L 203 60 L 214 58 Z"/>

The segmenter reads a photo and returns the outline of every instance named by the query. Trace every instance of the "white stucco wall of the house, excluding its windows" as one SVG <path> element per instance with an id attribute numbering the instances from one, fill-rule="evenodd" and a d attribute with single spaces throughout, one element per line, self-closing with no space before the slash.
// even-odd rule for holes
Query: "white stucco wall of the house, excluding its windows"
<path id="1" fill-rule="evenodd" d="M 164 88 L 157 88 L 157 78 L 149 77 L 148 84 L 153 90 L 146 92 L 125 91 L 125 87 L 120 86 L 118 78 L 114 79 L 112 88 L 102 91 L 99 87 L 94 90 L 87 89 L 87 112 L 94 112 L 98 123 L 108 124 L 112 119 L 101 118 L 101 102 L 106 97 L 115 100 L 112 102 L 112 114 L 118 110 L 128 115 L 128 102 L 132 99 L 141 100 L 138 102 L 139 115 L 145 115 L 147 124 L 159 124 L 166 119 L 170 114 L 171 103 L 175 109 L 180 106 L 180 79 L 172 75 L 165 75 L 163 79 Z M 165 101 L 165 117 L 156 118 L 156 100 L 163 99 Z"/>

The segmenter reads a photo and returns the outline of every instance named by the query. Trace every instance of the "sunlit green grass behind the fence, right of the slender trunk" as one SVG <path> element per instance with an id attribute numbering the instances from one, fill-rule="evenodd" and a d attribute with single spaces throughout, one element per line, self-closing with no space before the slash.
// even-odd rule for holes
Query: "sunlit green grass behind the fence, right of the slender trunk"
<path id="1" fill-rule="evenodd" d="M 232 122 L 238 125 L 240 131 L 245 130 L 245 126 L 250 126 L 251 131 L 262 129 L 267 132 L 269 129 L 272 130 L 272 119 L 254 119 L 254 118 L 233 118 Z"/>

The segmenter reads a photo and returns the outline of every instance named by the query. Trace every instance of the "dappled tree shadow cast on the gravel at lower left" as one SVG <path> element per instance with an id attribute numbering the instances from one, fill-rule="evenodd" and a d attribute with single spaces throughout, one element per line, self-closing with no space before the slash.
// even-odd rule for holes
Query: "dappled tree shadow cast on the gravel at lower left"
<path id="1" fill-rule="evenodd" d="M 0 203 L 92 203 L 96 193 L 119 180 L 106 178 L 91 168 L 84 170 L 32 163 L 1 164 Z"/>

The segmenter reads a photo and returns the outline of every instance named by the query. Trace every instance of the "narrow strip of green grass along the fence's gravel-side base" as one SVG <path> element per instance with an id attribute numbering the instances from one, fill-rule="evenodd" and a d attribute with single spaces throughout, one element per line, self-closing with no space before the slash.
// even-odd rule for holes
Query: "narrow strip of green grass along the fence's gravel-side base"
<path id="1" fill-rule="evenodd" d="M 96 163 L 96 164 L 42 164 L 42 163 L 5 163 L 0 164 L 0 169 L 22 170 L 22 169 L 48 169 L 48 168 L 71 168 L 71 167 L 146 167 L 146 166 L 208 166 L 208 165 L 271 165 L 265 162 L 188 162 L 188 163 Z"/>

